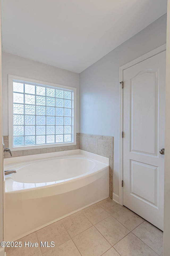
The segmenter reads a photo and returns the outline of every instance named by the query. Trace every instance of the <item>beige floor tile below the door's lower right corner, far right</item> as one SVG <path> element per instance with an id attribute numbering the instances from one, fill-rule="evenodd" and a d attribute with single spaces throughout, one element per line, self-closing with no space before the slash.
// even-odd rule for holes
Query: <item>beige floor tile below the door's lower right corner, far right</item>
<path id="1" fill-rule="evenodd" d="M 151 223 L 144 221 L 132 233 L 159 255 L 163 252 L 163 232 Z"/>

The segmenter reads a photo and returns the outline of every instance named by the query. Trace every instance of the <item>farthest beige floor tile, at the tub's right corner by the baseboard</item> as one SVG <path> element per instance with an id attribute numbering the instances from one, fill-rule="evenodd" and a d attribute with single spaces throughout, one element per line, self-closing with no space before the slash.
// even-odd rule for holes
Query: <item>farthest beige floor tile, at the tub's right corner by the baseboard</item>
<path id="1" fill-rule="evenodd" d="M 103 201 L 99 202 L 98 204 L 109 214 L 113 214 L 116 211 L 121 210 L 123 207 L 118 203 L 114 202 L 111 198 L 106 198 Z"/>

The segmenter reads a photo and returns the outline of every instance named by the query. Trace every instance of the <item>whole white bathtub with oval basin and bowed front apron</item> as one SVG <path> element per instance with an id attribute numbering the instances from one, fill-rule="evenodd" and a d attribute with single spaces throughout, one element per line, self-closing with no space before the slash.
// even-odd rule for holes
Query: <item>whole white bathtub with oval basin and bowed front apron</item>
<path id="1" fill-rule="evenodd" d="M 4 240 L 15 241 L 109 196 L 109 159 L 80 149 L 4 159 Z"/>

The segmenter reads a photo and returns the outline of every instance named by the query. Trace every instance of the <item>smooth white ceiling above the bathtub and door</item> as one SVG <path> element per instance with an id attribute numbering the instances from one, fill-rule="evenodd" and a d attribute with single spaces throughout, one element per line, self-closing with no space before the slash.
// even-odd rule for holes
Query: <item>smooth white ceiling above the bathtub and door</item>
<path id="1" fill-rule="evenodd" d="M 2 0 L 2 49 L 80 73 L 166 12 L 167 0 Z"/>

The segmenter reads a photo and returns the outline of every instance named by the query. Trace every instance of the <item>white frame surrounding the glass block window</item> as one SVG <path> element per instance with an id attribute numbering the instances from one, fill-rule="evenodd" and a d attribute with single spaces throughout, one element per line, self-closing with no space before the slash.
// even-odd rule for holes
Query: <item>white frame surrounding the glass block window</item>
<path id="1" fill-rule="evenodd" d="M 39 145 L 22 145 L 22 146 L 13 146 L 13 81 L 15 82 L 24 82 L 24 83 L 33 83 L 34 85 L 46 86 L 52 89 L 61 89 L 61 90 L 71 90 L 73 91 L 73 103 L 72 103 L 72 142 L 58 142 L 50 144 L 39 144 Z M 77 102 L 77 88 L 58 85 L 54 83 L 39 81 L 35 79 L 19 77 L 16 75 L 8 74 L 8 135 L 9 135 L 9 148 L 12 151 L 16 150 L 28 150 L 28 149 L 41 149 L 48 147 L 61 147 L 61 146 L 71 146 L 76 145 L 76 102 Z"/>

